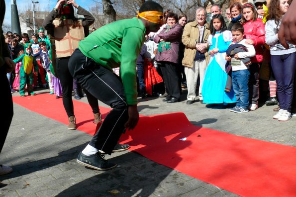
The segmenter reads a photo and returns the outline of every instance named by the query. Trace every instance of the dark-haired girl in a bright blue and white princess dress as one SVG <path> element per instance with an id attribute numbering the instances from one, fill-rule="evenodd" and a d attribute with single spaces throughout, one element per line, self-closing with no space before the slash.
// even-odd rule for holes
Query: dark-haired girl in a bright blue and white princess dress
<path id="1" fill-rule="evenodd" d="M 225 85 L 227 74 L 225 72 L 225 55 L 229 44 L 232 42 L 232 34 L 226 30 L 225 21 L 221 14 L 213 15 L 210 22 L 208 36 L 209 64 L 205 71 L 203 87 L 201 90 L 204 103 L 227 103 L 235 102 L 233 89 L 226 93 Z"/>

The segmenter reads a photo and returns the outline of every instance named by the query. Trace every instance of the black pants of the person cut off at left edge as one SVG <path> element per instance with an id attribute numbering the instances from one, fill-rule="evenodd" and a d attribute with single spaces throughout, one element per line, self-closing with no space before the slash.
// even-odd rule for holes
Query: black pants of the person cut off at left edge
<path id="1" fill-rule="evenodd" d="M 6 77 L 6 72 L 4 66 L 0 68 L 0 87 L 1 87 L 1 95 L 2 95 L 2 101 L 1 101 L 1 111 L 3 111 L 5 114 L 3 114 L 0 125 L 0 153 L 3 148 L 10 123 L 13 116 L 13 104 L 12 104 L 12 96 L 10 92 L 10 86 L 9 82 Z"/>

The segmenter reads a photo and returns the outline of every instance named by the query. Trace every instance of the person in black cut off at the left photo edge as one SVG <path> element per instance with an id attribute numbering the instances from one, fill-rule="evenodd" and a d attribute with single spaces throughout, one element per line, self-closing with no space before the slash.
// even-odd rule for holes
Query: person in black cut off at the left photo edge
<path id="1" fill-rule="evenodd" d="M 0 120 L 0 152 L 3 148 L 10 123 L 13 116 L 13 104 L 12 104 L 12 97 L 9 87 L 9 82 L 6 77 L 6 73 L 11 72 L 15 68 L 14 62 L 9 58 L 10 52 L 8 49 L 7 44 L 5 43 L 3 30 L 2 30 L 2 24 L 4 20 L 5 15 L 5 1 L 0 1 L 0 25 L 1 25 L 1 31 L 0 31 L 0 89 L 1 89 L 1 105 L 0 109 L 1 111 L 5 112 L 5 114 L 2 115 L 2 118 Z M 12 172 L 12 168 L 8 166 L 0 165 L 0 175 L 5 175 Z"/>

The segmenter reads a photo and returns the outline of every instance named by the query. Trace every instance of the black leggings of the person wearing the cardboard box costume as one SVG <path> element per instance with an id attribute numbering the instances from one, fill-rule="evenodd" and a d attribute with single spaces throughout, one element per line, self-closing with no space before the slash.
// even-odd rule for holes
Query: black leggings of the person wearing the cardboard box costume
<path id="1" fill-rule="evenodd" d="M 73 106 L 73 100 L 72 100 L 73 77 L 70 74 L 69 68 L 68 68 L 69 59 L 70 57 L 56 59 L 57 73 L 62 86 L 63 105 L 68 117 L 74 115 L 74 106 Z M 86 95 L 93 109 L 93 113 L 98 113 L 99 112 L 98 99 L 92 96 L 91 94 L 86 93 Z"/>

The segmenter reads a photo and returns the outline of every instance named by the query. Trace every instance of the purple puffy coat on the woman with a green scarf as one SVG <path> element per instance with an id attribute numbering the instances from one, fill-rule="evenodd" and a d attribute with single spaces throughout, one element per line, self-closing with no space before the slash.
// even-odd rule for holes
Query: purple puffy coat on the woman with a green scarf
<path id="1" fill-rule="evenodd" d="M 171 49 L 164 52 L 157 52 L 155 56 L 156 61 L 173 62 L 178 64 L 179 59 L 179 45 L 182 37 L 183 28 L 177 22 L 169 30 L 169 26 L 163 28 L 163 30 L 155 35 L 154 42 L 160 43 L 160 39 L 171 42 Z M 159 46 L 160 47 L 160 46 Z"/>

